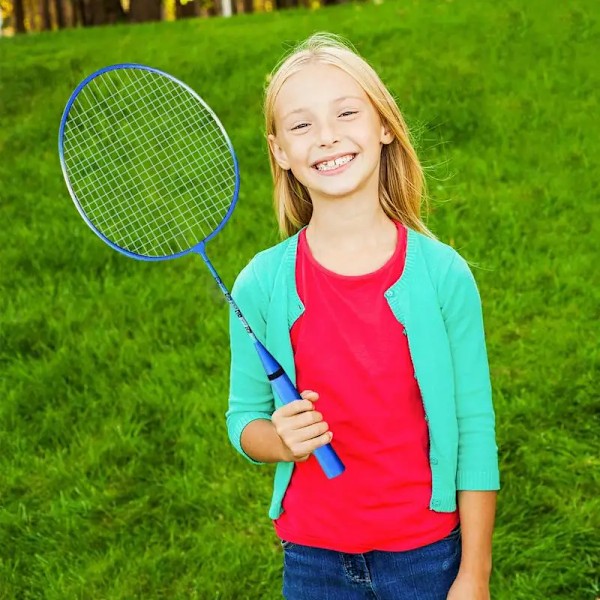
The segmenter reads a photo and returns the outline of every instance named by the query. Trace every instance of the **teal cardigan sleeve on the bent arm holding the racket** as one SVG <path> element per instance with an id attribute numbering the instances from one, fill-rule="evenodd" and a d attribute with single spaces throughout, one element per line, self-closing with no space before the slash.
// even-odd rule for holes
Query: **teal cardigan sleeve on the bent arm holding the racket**
<path id="1" fill-rule="evenodd" d="M 265 340 L 267 297 L 260 287 L 251 261 L 238 275 L 231 293 L 256 337 Z M 271 385 L 256 350 L 233 308 L 229 311 L 231 365 L 227 433 L 233 447 L 255 464 L 241 445 L 244 428 L 256 419 L 271 419 L 274 399 Z"/>

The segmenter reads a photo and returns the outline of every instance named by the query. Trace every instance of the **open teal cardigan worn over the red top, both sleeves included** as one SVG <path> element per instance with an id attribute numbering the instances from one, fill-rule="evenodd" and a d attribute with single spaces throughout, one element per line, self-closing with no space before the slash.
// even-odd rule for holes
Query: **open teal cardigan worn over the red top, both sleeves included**
<path id="1" fill-rule="evenodd" d="M 290 329 L 304 311 L 296 289 L 298 234 L 257 254 L 240 272 L 232 296 L 292 381 Z M 457 490 L 498 490 L 498 447 L 481 299 L 466 261 L 451 246 L 408 229 L 406 264 L 386 292 L 408 336 L 429 427 L 432 494 L 429 508 L 456 510 Z M 227 430 L 248 460 L 241 434 L 251 421 L 270 419 L 281 406 L 254 346 L 230 312 L 231 374 Z M 258 464 L 258 463 L 257 463 Z M 401 469 L 402 465 L 398 465 Z M 281 503 L 294 463 L 280 462 L 269 516 Z M 341 475 L 343 477 L 343 475 Z M 373 474 L 376 481 L 377 474 Z"/>

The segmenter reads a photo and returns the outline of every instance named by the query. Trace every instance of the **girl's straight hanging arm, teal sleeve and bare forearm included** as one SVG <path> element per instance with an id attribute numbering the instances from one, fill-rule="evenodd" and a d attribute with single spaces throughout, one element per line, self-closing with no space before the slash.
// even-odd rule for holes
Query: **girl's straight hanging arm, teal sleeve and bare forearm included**
<path id="1" fill-rule="evenodd" d="M 458 254 L 444 283 L 442 313 L 454 367 L 462 533 L 459 574 L 448 599 L 487 600 L 500 480 L 483 312 L 475 279 Z"/>

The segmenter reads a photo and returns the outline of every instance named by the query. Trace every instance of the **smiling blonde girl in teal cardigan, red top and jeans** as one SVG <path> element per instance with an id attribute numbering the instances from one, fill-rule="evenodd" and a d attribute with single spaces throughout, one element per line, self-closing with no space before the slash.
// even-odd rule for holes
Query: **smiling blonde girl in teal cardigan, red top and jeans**
<path id="1" fill-rule="evenodd" d="M 288 600 L 485 600 L 499 489 L 479 294 L 423 224 L 423 173 L 390 93 L 316 34 L 274 72 L 279 227 L 233 288 L 302 390 L 282 406 L 232 315 L 228 432 L 277 463 L 269 516 Z M 346 465 L 328 480 L 312 452 Z"/>

